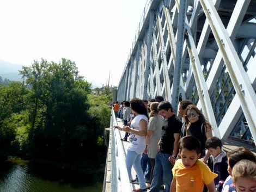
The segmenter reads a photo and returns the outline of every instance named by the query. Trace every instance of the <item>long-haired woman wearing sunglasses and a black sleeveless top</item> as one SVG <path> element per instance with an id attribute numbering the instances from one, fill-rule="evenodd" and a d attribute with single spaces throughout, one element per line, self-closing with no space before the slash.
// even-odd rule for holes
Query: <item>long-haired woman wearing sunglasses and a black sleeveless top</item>
<path id="1" fill-rule="evenodd" d="M 206 163 L 210 154 L 205 154 L 205 142 L 212 137 L 211 125 L 194 104 L 187 106 L 185 114 L 186 135 L 192 135 L 201 142 L 200 158 Z"/>

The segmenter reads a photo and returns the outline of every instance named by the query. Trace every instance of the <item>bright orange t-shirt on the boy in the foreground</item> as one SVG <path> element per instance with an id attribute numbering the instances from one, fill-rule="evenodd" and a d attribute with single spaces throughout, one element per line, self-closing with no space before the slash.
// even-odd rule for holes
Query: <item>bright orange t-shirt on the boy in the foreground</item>
<path id="1" fill-rule="evenodd" d="M 197 160 L 191 168 L 185 168 L 181 159 L 178 159 L 172 172 L 176 179 L 176 192 L 201 192 L 204 189 L 204 184 L 210 184 L 218 176 L 200 160 Z"/>

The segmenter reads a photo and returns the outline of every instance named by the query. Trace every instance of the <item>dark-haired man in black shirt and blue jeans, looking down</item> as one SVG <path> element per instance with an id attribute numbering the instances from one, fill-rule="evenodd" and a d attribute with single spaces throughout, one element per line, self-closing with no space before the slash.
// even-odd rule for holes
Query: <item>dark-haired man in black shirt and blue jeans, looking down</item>
<path id="1" fill-rule="evenodd" d="M 168 101 L 159 103 L 157 107 L 160 115 L 165 119 L 162 136 L 158 143 L 155 157 L 155 168 L 150 192 L 159 192 L 161 184 L 166 186 L 163 192 L 170 191 L 172 183 L 172 168 L 179 152 L 179 139 L 182 122 L 173 113 L 173 107 Z"/>

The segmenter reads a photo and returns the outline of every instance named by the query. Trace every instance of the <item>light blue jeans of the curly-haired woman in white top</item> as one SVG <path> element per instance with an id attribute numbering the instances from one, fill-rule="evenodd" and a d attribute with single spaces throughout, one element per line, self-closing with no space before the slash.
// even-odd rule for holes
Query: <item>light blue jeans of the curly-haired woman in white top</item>
<path id="1" fill-rule="evenodd" d="M 129 179 L 130 180 L 132 179 L 132 165 L 133 165 L 133 168 L 135 169 L 139 179 L 139 187 L 141 189 L 145 189 L 147 186 L 146 186 L 144 174 L 141 168 L 141 154 L 138 154 L 135 151 L 127 151 L 125 162 L 126 162 Z"/>

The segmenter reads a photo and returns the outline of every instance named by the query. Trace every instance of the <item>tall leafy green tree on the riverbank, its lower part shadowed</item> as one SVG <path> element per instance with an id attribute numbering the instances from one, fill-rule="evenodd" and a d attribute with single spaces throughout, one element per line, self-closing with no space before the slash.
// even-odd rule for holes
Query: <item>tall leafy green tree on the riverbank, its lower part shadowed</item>
<path id="1" fill-rule="evenodd" d="M 88 113 L 91 85 L 78 75 L 76 64 L 42 59 L 20 73 L 31 86 L 29 156 L 60 168 L 88 171 L 92 164 L 96 166 L 102 129 L 97 117 Z"/>

